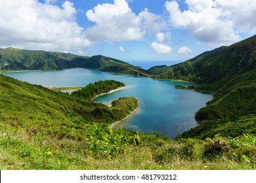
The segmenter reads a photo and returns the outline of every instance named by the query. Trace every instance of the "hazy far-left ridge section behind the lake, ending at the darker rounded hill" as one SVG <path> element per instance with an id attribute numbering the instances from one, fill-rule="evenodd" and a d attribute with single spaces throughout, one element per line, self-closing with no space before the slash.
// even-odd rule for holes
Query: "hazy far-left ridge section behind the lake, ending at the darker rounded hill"
<path id="1" fill-rule="evenodd" d="M 0 50 L 0 69 L 3 71 L 62 69 L 79 65 L 77 61 L 86 58 L 60 52 L 6 48 Z"/>

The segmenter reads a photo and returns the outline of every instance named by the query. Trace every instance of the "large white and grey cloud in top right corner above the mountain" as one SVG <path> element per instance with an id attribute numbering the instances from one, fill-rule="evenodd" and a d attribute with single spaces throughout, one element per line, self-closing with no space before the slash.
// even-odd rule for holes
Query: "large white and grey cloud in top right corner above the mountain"
<path id="1" fill-rule="evenodd" d="M 169 22 L 213 46 L 239 41 L 239 33 L 256 30 L 256 1 L 186 0 L 186 4 L 188 9 L 182 11 L 177 1 L 165 3 Z"/>

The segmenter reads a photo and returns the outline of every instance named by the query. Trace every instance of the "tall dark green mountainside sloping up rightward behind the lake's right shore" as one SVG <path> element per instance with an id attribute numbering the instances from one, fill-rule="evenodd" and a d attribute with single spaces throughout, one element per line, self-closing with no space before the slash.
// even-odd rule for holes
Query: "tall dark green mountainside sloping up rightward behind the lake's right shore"
<path id="1" fill-rule="evenodd" d="M 256 69 L 256 35 L 184 61 L 156 78 L 211 84 L 223 78 L 232 79 L 254 69 Z"/>

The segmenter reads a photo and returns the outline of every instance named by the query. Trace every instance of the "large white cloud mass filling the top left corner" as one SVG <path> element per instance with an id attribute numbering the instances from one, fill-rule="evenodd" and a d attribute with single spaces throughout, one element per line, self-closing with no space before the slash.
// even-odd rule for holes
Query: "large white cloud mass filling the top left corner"
<path id="1" fill-rule="evenodd" d="M 75 22 L 73 3 L 0 0 L 0 46 L 64 51 L 93 44 Z"/>

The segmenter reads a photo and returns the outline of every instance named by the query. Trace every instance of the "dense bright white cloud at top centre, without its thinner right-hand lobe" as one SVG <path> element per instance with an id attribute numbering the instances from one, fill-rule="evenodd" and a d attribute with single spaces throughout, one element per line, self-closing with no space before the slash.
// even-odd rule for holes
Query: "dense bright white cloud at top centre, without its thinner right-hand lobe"
<path id="1" fill-rule="evenodd" d="M 86 16 L 96 24 L 86 30 L 87 37 L 93 41 L 135 41 L 144 37 L 140 18 L 125 0 L 99 4 L 93 10 L 88 10 Z"/>

